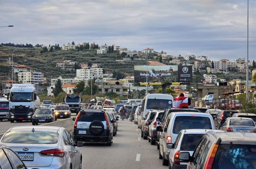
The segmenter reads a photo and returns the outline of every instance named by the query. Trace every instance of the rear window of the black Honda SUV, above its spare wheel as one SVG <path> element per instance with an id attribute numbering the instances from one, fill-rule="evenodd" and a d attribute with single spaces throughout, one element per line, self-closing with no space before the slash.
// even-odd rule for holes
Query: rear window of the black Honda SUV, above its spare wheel
<path id="1" fill-rule="evenodd" d="M 106 121 L 104 113 L 81 113 L 78 122 Z"/>

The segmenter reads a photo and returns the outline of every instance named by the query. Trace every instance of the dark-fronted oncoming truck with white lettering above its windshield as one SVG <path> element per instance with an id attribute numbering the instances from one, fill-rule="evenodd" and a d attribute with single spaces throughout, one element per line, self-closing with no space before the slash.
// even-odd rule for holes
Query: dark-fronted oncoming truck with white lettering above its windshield
<path id="1" fill-rule="evenodd" d="M 66 95 L 63 101 L 69 106 L 71 113 L 78 114 L 81 110 L 80 103 L 82 102 L 82 98 L 79 95 Z"/>

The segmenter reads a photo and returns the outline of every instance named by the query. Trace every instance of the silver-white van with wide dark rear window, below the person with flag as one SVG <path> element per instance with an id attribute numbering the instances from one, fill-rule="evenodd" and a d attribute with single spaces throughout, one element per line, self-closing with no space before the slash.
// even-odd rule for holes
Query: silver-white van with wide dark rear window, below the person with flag
<path id="1" fill-rule="evenodd" d="M 159 138 L 159 159 L 163 165 L 168 165 L 170 149 L 168 144 L 173 144 L 183 129 L 215 129 L 215 123 L 210 114 L 196 112 L 172 112 L 165 121 L 162 135 Z"/>

